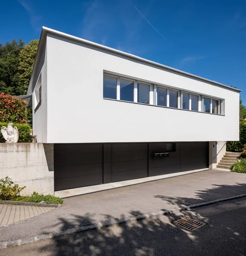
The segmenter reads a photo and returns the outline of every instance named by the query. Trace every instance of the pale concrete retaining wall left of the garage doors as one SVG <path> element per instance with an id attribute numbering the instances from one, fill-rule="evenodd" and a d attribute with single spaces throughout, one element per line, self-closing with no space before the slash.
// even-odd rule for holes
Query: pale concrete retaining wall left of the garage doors
<path id="1" fill-rule="evenodd" d="M 46 143 L 0 143 L 0 178 L 12 177 L 26 186 L 23 195 L 36 191 L 54 194 L 54 145 Z"/>

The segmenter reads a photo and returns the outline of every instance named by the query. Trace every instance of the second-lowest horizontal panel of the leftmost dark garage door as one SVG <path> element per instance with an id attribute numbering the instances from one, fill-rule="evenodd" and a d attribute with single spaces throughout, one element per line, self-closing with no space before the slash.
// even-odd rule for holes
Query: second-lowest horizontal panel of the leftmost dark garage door
<path id="1" fill-rule="evenodd" d="M 78 165 L 78 166 L 58 166 L 55 169 L 55 177 L 77 177 L 86 175 L 101 174 L 102 163 Z"/>

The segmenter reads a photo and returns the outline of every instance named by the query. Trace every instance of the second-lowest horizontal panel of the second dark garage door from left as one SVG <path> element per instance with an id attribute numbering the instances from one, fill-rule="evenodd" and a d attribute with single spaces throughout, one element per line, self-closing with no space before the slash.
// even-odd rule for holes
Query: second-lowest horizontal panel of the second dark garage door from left
<path id="1" fill-rule="evenodd" d="M 112 172 L 123 172 L 127 170 L 145 169 L 148 166 L 148 160 L 135 160 L 112 163 Z"/>

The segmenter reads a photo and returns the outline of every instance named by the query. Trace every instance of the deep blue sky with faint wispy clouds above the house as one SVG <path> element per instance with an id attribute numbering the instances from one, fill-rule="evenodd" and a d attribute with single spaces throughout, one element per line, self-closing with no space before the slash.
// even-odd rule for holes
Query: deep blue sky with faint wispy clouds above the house
<path id="1" fill-rule="evenodd" d="M 245 0 L 2 0 L 0 24 L 2 44 L 47 26 L 236 86 L 246 105 Z"/>

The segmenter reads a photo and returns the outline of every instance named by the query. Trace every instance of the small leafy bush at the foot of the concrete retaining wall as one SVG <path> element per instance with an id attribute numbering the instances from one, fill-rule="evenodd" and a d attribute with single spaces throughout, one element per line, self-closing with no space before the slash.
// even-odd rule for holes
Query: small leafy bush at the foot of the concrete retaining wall
<path id="1" fill-rule="evenodd" d="M 6 177 L 5 179 L 0 179 L 0 199 L 1 200 L 12 200 L 12 198 L 17 198 L 20 196 L 21 190 L 26 186 L 19 187 L 15 184 L 11 177 Z"/>

